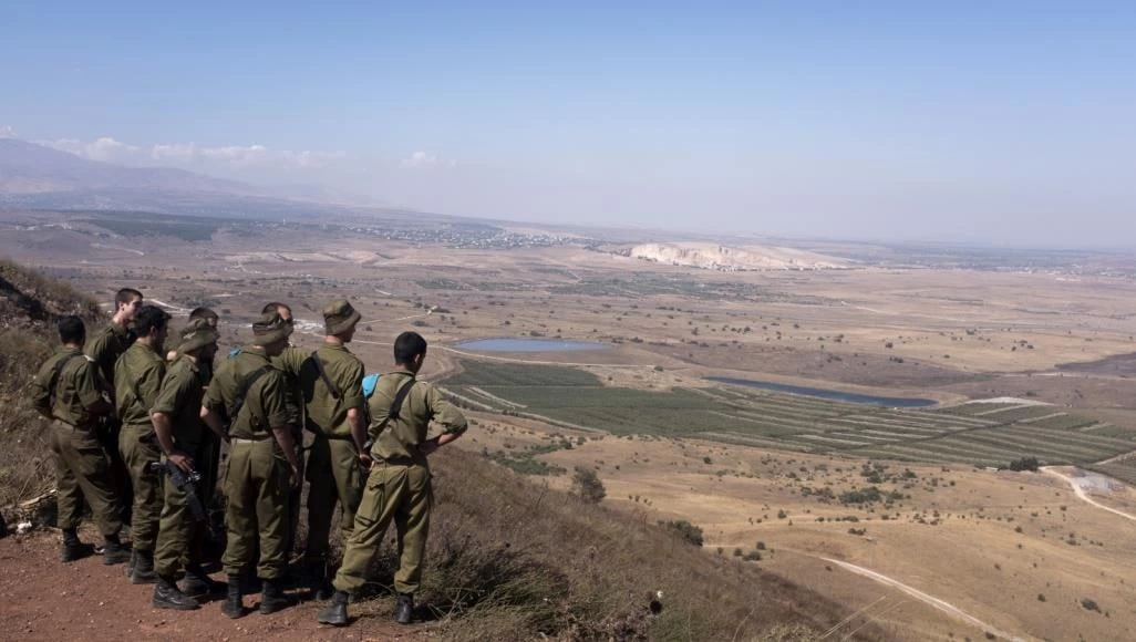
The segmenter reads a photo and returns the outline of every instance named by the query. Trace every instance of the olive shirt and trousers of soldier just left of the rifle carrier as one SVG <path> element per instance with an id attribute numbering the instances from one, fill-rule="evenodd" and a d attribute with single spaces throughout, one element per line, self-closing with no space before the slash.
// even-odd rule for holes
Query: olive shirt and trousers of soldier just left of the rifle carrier
<path id="1" fill-rule="evenodd" d="M 162 478 L 149 473 L 147 466 L 161 459 L 150 409 L 158 399 L 165 374 L 166 360 L 142 343 L 131 345 L 115 364 L 118 418 L 123 425 L 118 449 L 134 486 L 131 537 L 134 550 L 140 552 L 153 551 L 161 518 Z"/>

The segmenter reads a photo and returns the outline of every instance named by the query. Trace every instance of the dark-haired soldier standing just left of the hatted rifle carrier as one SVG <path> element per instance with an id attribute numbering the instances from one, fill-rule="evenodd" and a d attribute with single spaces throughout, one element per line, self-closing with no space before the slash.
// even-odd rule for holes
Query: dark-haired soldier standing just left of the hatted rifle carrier
<path id="1" fill-rule="evenodd" d="M 158 520 L 161 517 L 161 477 L 147 467 L 161 457 L 150 423 L 150 408 L 158 399 L 161 380 L 166 376 L 162 343 L 169 315 L 156 306 L 142 306 L 134 317 L 137 340 L 115 364 L 118 419 L 122 432 L 118 448 L 131 473 L 134 486 L 134 506 L 131 516 L 131 537 L 134 555 L 126 572 L 131 584 L 152 584 L 153 547 L 158 540 Z"/>

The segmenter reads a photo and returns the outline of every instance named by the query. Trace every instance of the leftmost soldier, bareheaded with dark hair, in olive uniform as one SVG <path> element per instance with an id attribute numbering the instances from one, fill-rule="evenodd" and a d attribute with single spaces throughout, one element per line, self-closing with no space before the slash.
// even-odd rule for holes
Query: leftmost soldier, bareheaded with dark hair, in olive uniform
<path id="1" fill-rule="evenodd" d="M 51 451 L 56 460 L 59 527 L 64 532 L 62 560 L 72 561 L 89 550 L 80 542 L 83 499 L 102 532 L 102 562 L 122 564 L 130 552 L 118 541 L 123 523 L 118 498 L 110 483 L 107 459 L 95 437 L 100 415 L 114 410 L 102 395 L 94 361 L 83 356 L 86 327 L 76 316 L 59 319 L 62 347 L 43 364 L 31 386 L 32 405 L 52 419 Z"/>

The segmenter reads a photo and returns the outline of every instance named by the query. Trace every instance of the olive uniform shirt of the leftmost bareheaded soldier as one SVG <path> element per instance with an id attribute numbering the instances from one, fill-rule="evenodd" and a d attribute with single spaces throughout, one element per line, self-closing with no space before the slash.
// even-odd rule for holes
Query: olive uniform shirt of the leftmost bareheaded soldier
<path id="1" fill-rule="evenodd" d="M 51 377 L 60 360 L 66 360 L 56 380 L 52 399 Z M 90 357 L 84 357 L 78 348 L 60 348 L 49 358 L 32 381 L 30 397 L 40 410 L 49 410 L 51 416 L 73 426 L 86 428 L 98 418 L 89 409 L 102 398 L 98 367 Z"/>

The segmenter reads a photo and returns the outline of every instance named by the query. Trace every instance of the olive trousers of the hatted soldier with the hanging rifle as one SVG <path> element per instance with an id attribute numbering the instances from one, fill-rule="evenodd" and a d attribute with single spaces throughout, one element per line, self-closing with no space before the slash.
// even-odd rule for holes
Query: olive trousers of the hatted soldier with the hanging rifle
<path id="1" fill-rule="evenodd" d="M 208 458 L 208 449 L 212 444 L 177 444 L 183 452 L 193 458 L 194 462 Z M 204 478 L 197 487 L 198 498 L 204 505 L 202 487 Z M 166 480 L 165 501 L 161 509 L 161 520 L 158 530 L 158 543 L 153 551 L 153 569 L 158 575 L 174 575 L 182 568 L 183 560 L 187 565 L 201 564 L 204 544 L 206 523 L 195 522 L 190 510 L 185 492 L 178 490 L 174 482 Z"/>

